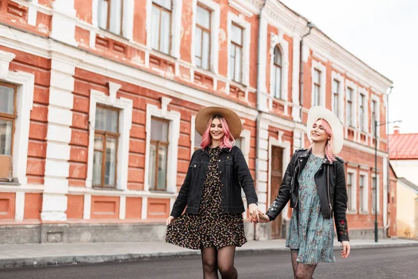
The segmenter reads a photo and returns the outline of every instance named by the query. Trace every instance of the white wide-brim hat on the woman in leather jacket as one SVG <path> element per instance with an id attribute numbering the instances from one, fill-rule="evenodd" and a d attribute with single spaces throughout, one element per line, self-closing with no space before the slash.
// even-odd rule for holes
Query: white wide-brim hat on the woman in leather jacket
<path id="1" fill-rule="evenodd" d="M 311 139 L 311 130 L 312 126 L 318 119 L 326 120 L 331 128 L 332 128 L 332 153 L 337 155 L 343 149 L 344 143 L 344 134 L 343 134 L 343 125 L 341 121 L 339 121 L 338 117 L 331 112 L 330 110 L 326 109 L 325 107 L 314 106 L 308 112 L 308 122 L 307 122 L 307 135 L 309 142 L 312 142 Z"/>

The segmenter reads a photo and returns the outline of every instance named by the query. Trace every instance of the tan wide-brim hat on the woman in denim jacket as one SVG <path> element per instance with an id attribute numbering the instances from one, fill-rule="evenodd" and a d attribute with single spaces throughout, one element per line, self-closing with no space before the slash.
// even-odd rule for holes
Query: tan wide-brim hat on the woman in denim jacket
<path id="1" fill-rule="evenodd" d="M 212 116 L 215 114 L 219 114 L 226 122 L 228 122 L 229 131 L 234 139 L 238 139 L 241 135 L 242 131 L 242 123 L 240 116 L 233 112 L 233 110 L 229 110 L 226 107 L 205 107 L 202 109 L 197 115 L 195 120 L 196 130 L 200 135 L 205 133 L 206 128 L 208 127 L 208 121 Z"/>

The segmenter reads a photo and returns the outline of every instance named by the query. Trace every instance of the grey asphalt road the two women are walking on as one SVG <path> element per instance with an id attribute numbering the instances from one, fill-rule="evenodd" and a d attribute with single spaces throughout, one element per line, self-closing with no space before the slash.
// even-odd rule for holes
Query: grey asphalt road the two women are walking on
<path id="1" fill-rule="evenodd" d="M 338 251 L 335 252 L 336 256 L 339 256 Z M 337 257 L 334 264 L 319 264 L 314 278 L 418 278 L 417 259 L 417 247 L 357 249 L 351 251 L 348 259 Z M 238 255 L 235 258 L 235 266 L 238 269 L 238 278 L 293 278 L 289 252 Z M 0 270 L 0 278 L 8 279 L 196 279 L 202 277 L 200 257 Z"/>

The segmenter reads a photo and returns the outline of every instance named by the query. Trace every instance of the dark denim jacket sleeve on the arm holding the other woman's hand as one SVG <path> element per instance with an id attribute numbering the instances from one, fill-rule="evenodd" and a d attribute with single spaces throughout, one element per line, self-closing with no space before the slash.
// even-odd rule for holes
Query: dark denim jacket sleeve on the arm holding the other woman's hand
<path id="1" fill-rule="evenodd" d="M 240 181 L 242 189 L 244 190 L 247 204 L 257 204 L 258 198 L 256 189 L 254 188 L 254 179 L 252 179 L 251 172 L 249 172 L 245 157 L 242 154 L 241 149 L 238 147 L 234 147 L 234 149 L 233 170 L 238 177 L 238 181 Z"/>

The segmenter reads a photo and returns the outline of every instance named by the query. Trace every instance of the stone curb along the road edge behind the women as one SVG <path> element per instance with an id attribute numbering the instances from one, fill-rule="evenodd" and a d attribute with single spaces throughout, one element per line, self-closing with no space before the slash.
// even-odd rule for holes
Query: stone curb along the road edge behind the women
<path id="1" fill-rule="evenodd" d="M 387 243 L 387 244 L 359 244 L 351 247 L 352 250 L 371 249 L 371 248 L 399 248 L 418 246 L 417 243 Z M 334 250 L 340 250 L 340 246 L 334 246 Z M 238 249 L 236 255 L 261 254 L 268 252 L 287 252 L 288 248 L 249 248 Z M 180 259 L 187 257 L 198 257 L 201 255 L 199 250 L 184 252 L 150 252 L 138 254 L 118 254 L 118 255 L 70 255 L 58 257 L 27 257 L 15 259 L 0 259 L 0 269 L 36 267 L 36 266 L 59 266 L 77 264 L 100 264 L 104 262 L 130 262 L 137 260 L 152 259 Z"/>

